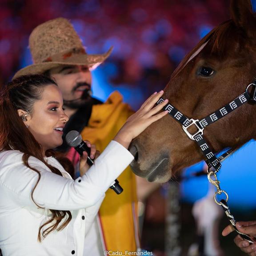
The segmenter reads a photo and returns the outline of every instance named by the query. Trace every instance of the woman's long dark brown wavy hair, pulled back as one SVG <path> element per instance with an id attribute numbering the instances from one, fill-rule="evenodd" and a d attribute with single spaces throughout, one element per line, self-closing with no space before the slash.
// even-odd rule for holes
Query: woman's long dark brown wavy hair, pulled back
<path id="1" fill-rule="evenodd" d="M 18 109 L 25 109 L 31 114 L 33 113 L 33 104 L 36 100 L 40 100 L 44 88 L 50 84 L 56 84 L 51 78 L 42 75 L 27 75 L 20 76 L 12 82 L 8 83 L 0 93 L 0 151 L 1 150 L 19 150 L 23 152 L 22 157 L 24 164 L 32 171 L 37 172 L 38 180 L 32 190 L 32 200 L 35 188 L 40 181 L 40 172 L 36 168 L 32 168 L 28 164 L 29 156 L 34 156 L 43 162 L 53 173 L 61 175 L 60 171 L 48 164 L 44 160 L 44 155 L 41 145 L 36 141 L 29 129 L 18 115 Z M 59 160 L 60 164 L 64 166 L 66 171 L 72 172 L 72 163 L 64 156 L 57 154 L 53 150 L 45 152 L 46 156 L 54 156 Z M 38 204 L 36 204 L 40 207 Z M 41 207 L 40 207 L 41 208 Z M 51 210 L 51 218 L 39 228 L 38 240 L 41 242 L 41 230 L 44 226 L 51 224 L 43 232 L 42 236 L 45 238 L 50 232 L 64 229 L 72 215 L 70 211 Z M 62 220 L 65 221 L 60 224 Z"/>

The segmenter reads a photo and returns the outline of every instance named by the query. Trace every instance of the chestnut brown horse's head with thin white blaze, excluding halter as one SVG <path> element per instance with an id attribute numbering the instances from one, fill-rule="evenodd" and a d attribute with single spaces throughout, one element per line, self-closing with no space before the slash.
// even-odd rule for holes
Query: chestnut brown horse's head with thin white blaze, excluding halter
<path id="1" fill-rule="evenodd" d="M 228 104 L 256 77 L 256 18 L 250 0 L 232 0 L 231 17 L 184 58 L 164 89 L 163 98 L 189 118 L 201 119 Z M 205 128 L 213 151 L 255 138 L 255 113 L 256 106 L 244 104 Z M 149 181 L 167 181 L 203 159 L 195 141 L 168 115 L 133 140 L 130 151 L 133 171 Z"/>

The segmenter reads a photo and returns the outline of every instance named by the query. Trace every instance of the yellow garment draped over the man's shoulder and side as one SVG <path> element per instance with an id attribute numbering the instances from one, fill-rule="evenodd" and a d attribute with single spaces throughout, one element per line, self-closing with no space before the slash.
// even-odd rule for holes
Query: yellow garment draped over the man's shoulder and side
<path id="1" fill-rule="evenodd" d="M 82 138 L 96 144 L 101 152 L 133 113 L 122 101 L 120 93 L 113 92 L 104 104 L 93 105 L 88 126 L 81 132 Z M 128 167 L 118 181 L 124 191 L 117 195 L 108 189 L 100 207 L 103 242 L 106 250 L 134 252 L 140 247 L 135 175 Z"/>

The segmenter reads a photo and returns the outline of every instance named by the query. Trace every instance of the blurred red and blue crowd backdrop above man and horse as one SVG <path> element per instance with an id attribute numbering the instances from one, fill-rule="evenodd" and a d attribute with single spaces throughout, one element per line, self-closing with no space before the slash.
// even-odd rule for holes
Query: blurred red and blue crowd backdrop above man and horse
<path id="1" fill-rule="evenodd" d="M 104 99 L 118 89 L 136 109 L 151 92 L 164 88 L 176 65 L 202 36 L 228 18 L 228 1 L 1 0 L 1 83 L 31 64 L 32 29 L 60 16 L 72 21 L 88 53 L 103 53 L 114 46 L 108 61 L 96 71 L 94 93 Z"/>

